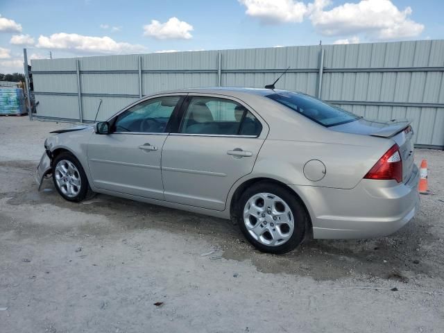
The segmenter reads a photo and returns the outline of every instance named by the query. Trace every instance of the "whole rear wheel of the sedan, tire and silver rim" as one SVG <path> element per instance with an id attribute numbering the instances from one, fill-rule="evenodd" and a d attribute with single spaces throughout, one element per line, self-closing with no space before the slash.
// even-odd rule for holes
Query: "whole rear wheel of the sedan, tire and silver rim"
<path id="1" fill-rule="evenodd" d="M 239 198 L 237 223 L 246 239 L 266 253 L 294 250 L 304 239 L 309 216 L 300 199 L 273 182 L 258 182 Z"/>

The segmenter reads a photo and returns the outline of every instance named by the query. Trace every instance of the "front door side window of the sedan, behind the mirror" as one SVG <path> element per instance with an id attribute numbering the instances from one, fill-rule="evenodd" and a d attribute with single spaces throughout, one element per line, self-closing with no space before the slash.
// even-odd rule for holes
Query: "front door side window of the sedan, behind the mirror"
<path id="1" fill-rule="evenodd" d="M 164 96 L 143 101 L 122 112 L 114 122 L 119 133 L 164 133 L 180 96 Z"/>

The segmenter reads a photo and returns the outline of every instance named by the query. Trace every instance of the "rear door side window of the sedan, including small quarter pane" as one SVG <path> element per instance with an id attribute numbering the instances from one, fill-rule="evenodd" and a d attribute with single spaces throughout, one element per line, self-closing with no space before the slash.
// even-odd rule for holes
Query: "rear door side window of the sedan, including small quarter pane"
<path id="1" fill-rule="evenodd" d="M 252 135 L 261 123 L 243 105 L 216 97 L 192 97 L 180 133 L 207 135 Z"/>

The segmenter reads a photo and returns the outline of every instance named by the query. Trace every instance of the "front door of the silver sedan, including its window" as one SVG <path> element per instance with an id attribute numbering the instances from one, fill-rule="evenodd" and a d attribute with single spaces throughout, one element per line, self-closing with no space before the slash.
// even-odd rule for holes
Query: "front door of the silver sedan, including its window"
<path id="1" fill-rule="evenodd" d="M 139 102 L 110 120 L 111 134 L 93 135 L 87 155 L 94 186 L 163 200 L 162 146 L 181 101 L 161 96 Z"/>

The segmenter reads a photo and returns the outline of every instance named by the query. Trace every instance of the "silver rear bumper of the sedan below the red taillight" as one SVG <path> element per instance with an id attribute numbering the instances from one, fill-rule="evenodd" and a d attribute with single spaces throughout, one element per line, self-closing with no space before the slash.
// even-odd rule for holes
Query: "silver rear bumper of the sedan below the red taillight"
<path id="1" fill-rule="evenodd" d="M 419 210 L 419 171 L 407 183 L 361 180 L 354 189 L 298 187 L 317 239 L 384 237 L 407 224 Z"/>

